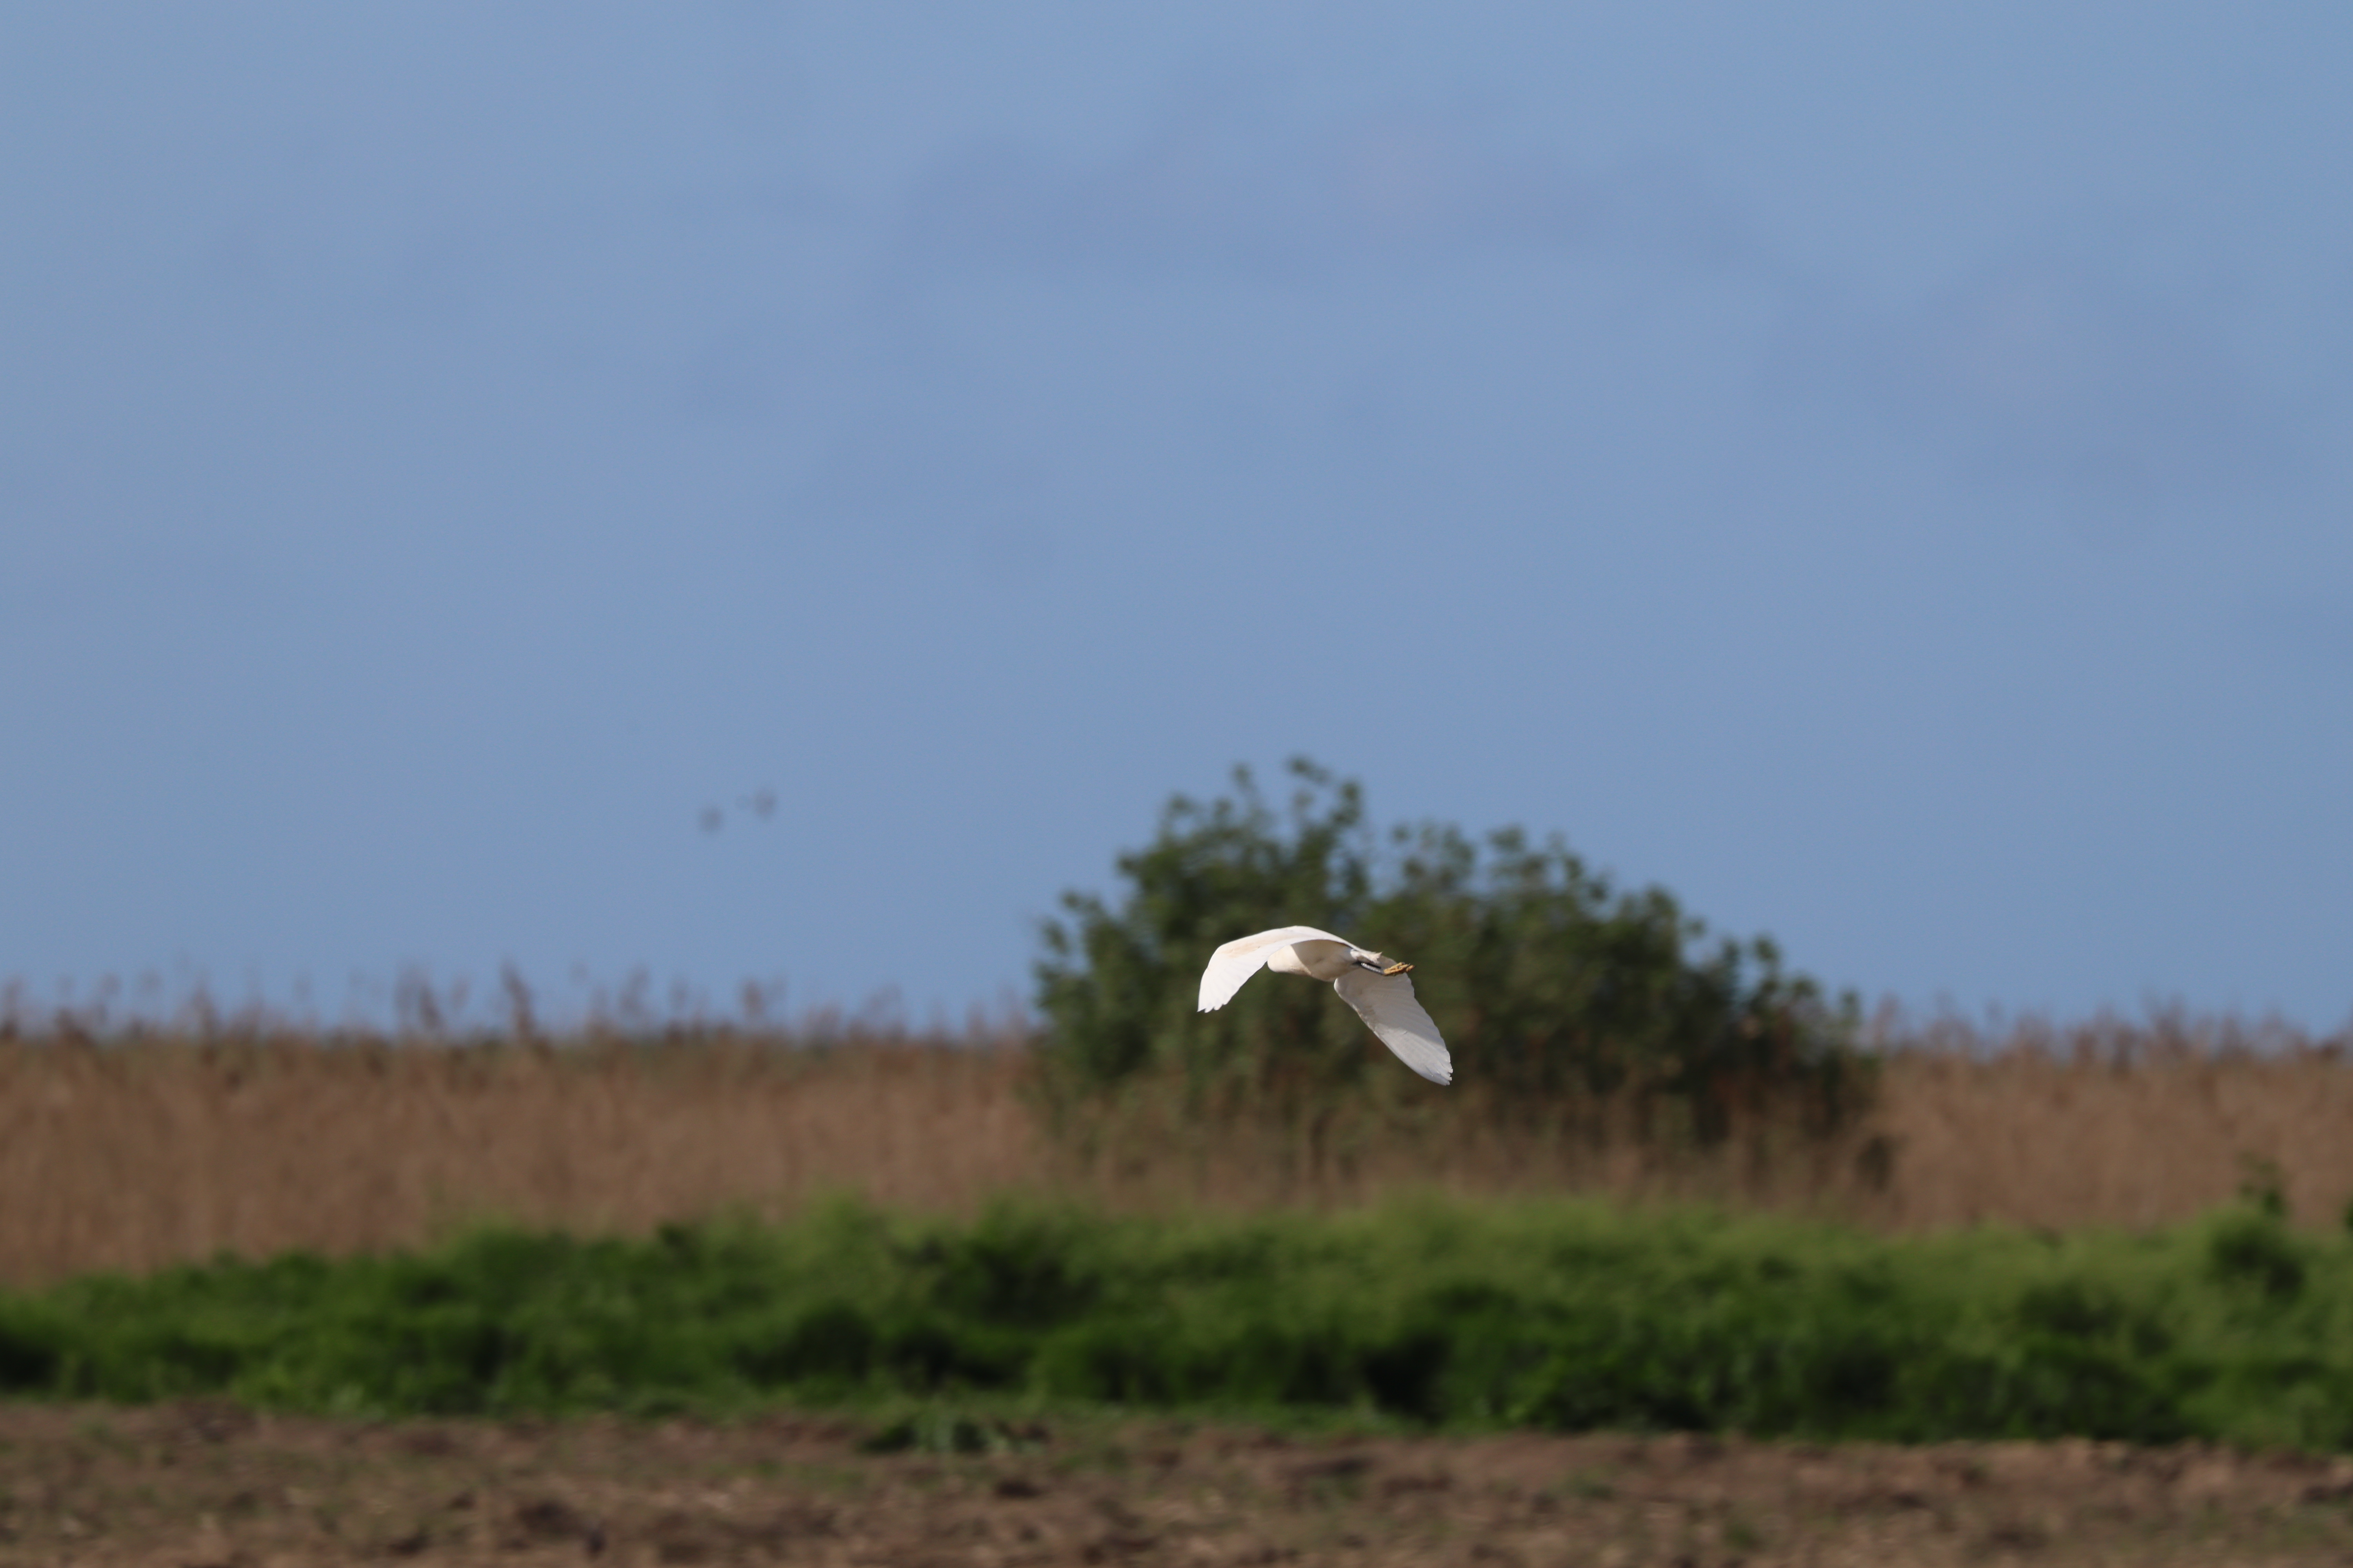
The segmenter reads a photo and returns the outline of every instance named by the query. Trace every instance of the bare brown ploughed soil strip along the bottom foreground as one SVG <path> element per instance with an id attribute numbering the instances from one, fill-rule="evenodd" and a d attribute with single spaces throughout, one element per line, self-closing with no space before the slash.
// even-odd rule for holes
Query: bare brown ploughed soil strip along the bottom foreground
<path id="1" fill-rule="evenodd" d="M 0 1563 L 2346 1563 L 2353 1460 L 0 1406 Z"/>

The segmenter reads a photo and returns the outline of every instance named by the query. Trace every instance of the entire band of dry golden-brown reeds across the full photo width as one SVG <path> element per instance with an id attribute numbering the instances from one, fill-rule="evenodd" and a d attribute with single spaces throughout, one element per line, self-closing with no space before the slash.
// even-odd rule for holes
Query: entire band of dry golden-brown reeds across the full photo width
<path id="1" fill-rule="evenodd" d="M 562 1044 L 52 1030 L 0 1039 L 0 1281 L 376 1251 L 480 1220 L 776 1218 L 826 1194 L 965 1211 L 998 1192 L 1169 1208 L 1567 1190 L 1889 1229 L 2141 1227 L 2249 1182 L 2334 1225 L 2353 1199 L 2341 1041 L 2162 1018 L 1901 1039 L 1838 1140 L 1751 1126 L 1701 1152 L 1607 1117 L 1511 1131 L 1475 1086 L 1214 1138 L 1139 1098 L 1075 1147 L 1033 1112 L 1012 1030 L 819 1046 L 732 1025 Z"/>

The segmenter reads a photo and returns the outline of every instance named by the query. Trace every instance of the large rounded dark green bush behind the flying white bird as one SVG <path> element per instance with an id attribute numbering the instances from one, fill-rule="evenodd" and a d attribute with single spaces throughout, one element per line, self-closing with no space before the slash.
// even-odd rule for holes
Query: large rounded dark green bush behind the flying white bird
<path id="1" fill-rule="evenodd" d="M 1861 1107 L 1854 1004 L 1781 969 L 1777 947 L 1718 940 L 1664 889 L 1617 891 L 1555 837 L 1473 842 L 1424 823 L 1386 839 L 1353 780 L 1299 759 L 1278 813 L 1247 769 L 1231 797 L 1176 797 L 1125 853 L 1113 907 L 1066 893 L 1038 964 L 1042 1065 L 1059 1098 L 1184 1081 L 1202 1110 L 1292 1105 L 1362 1086 L 1391 1063 L 1327 987 L 1254 980 L 1193 1011 L 1209 952 L 1268 926 L 1322 926 L 1409 959 L 1454 1051 L 1449 1093 L 1513 1117 L 1617 1100 L 1678 1110 L 1701 1143 L 1744 1112 L 1831 1131 Z"/>

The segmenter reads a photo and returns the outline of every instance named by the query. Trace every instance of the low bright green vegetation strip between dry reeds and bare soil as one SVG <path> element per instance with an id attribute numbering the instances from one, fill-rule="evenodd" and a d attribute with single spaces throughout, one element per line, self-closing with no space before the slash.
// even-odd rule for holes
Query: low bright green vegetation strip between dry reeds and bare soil
<path id="1" fill-rule="evenodd" d="M 2141 1237 L 1925 1239 L 1567 1201 L 969 1222 L 838 1206 L 85 1279 L 0 1298 L 0 1392 L 2353 1448 L 2353 1239 L 2261 1204 Z"/>

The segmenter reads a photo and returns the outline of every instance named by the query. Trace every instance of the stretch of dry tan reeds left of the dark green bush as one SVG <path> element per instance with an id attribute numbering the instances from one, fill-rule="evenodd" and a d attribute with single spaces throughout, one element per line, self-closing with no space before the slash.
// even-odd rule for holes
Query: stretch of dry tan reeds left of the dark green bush
<path id="1" fill-rule="evenodd" d="M 859 1194 L 1016 1187 L 1035 1133 L 995 1041 L 391 1044 L 292 1032 L 0 1044 L 0 1281 L 480 1222 L 640 1232 Z"/>

